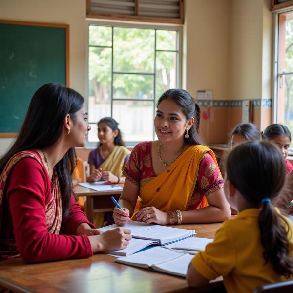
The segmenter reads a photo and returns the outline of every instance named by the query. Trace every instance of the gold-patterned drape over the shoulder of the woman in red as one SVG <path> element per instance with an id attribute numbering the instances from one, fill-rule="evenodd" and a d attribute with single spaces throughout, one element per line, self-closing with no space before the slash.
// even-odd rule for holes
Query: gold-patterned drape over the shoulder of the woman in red
<path id="1" fill-rule="evenodd" d="M 43 163 L 39 156 L 36 154 L 36 151 L 21 151 L 13 155 L 6 166 L 4 167 L 2 173 L 0 174 L 0 229 L 2 223 L 2 213 L 3 213 L 3 197 L 5 184 L 9 177 L 10 171 L 13 169 L 15 164 L 23 158 L 33 158 L 37 160 L 40 165 L 43 166 Z M 57 174 L 54 171 L 53 173 L 53 182 L 54 188 L 52 191 L 52 197 L 50 201 L 45 206 L 45 216 L 46 216 L 46 226 L 47 231 L 51 234 L 59 234 L 61 222 L 62 222 L 62 200 L 61 192 L 59 188 L 59 182 Z M 0 260 L 10 259 L 19 257 L 17 252 L 17 247 L 15 239 L 0 239 Z"/>

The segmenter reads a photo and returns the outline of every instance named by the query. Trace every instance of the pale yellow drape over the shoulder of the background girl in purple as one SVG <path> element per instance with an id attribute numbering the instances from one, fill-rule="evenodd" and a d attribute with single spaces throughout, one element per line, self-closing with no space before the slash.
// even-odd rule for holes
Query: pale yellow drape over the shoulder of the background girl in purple
<path id="1" fill-rule="evenodd" d="M 99 166 L 103 171 L 110 171 L 115 176 L 122 176 L 124 160 L 130 151 L 124 146 L 115 145 L 110 155 Z"/>

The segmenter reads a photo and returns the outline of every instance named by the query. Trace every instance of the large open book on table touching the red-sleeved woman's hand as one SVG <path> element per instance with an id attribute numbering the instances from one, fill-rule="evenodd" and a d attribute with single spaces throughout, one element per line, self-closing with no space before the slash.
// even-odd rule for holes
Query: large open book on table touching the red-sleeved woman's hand
<path id="1" fill-rule="evenodd" d="M 118 227 L 131 230 L 132 240 L 129 242 L 126 249 L 106 251 L 106 253 L 130 255 L 153 244 L 165 245 L 195 235 L 194 230 L 152 225 L 137 221 L 130 221 L 123 227 L 114 224 L 99 228 L 99 230 L 105 232 Z"/>

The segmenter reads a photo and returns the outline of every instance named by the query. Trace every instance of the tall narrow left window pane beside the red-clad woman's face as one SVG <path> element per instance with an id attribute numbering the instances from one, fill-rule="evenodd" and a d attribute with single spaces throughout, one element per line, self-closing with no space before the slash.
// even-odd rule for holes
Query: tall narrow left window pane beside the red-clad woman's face
<path id="1" fill-rule="evenodd" d="M 89 47 L 88 113 L 90 122 L 111 115 L 111 48 Z"/>

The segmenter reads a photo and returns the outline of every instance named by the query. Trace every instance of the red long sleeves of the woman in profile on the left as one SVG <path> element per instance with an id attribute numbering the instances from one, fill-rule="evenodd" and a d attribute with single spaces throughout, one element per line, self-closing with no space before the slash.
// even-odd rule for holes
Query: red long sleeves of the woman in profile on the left
<path id="1" fill-rule="evenodd" d="M 44 171 L 35 159 L 24 158 L 15 165 L 6 183 L 13 233 L 21 258 L 32 263 L 91 256 L 86 235 L 56 235 L 47 231 L 45 205 L 52 194 L 51 181 Z M 74 215 L 76 209 L 74 205 L 70 211 L 67 222 L 73 219 L 73 223 L 65 225 L 66 231 L 76 229 L 77 223 L 84 219 L 81 211 Z"/>

